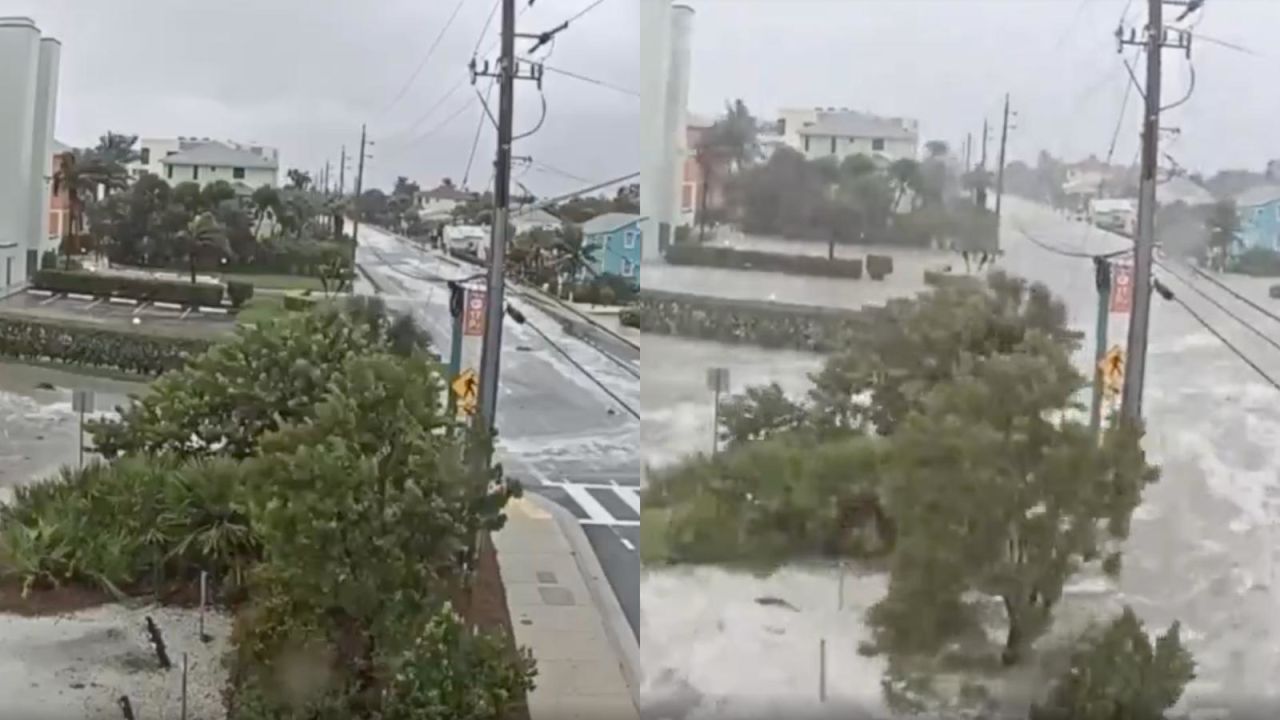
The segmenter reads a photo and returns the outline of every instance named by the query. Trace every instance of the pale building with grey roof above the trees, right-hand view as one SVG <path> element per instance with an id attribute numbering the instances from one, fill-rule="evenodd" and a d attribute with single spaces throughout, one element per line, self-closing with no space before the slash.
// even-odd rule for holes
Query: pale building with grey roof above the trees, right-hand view
<path id="1" fill-rule="evenodd" d="M 782 142 L 810 160 L 919 156 L 919 123 L 909 118 L 882 118 L 847 108 L 783 109 L 780 115 Z"/>

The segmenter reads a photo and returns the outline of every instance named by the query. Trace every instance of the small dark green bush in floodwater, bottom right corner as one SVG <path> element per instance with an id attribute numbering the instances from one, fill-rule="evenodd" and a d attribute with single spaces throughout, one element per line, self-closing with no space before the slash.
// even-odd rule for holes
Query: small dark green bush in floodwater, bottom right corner
<path id="1" fill-rule="evenodd" d="M 1128 606 L 1087 633 L 1030 720 L 1161 720 L 1196 678 L 1178 623 L 1156 639 Z"/>

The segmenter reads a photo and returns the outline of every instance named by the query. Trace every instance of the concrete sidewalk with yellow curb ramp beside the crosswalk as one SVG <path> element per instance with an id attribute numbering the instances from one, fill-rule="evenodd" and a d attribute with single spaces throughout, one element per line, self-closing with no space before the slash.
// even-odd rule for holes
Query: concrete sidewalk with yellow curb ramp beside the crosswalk
<path id="1" fill-rule="evenodd" d="M 640 647 L 586 534 L 535 493 L 493 536 L 516 643 L 538 662 L 531 720 L 639 720 Z"/>

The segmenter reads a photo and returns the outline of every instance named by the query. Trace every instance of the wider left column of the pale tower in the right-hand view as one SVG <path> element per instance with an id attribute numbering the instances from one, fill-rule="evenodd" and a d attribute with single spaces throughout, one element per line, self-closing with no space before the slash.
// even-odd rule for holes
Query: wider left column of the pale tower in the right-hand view
<path id="1" fill-rule="evenodd" d="M 666 217 L 667 65 L 671 58 L 671 1 L 640 0 L 640 214 L 641 263 L 662 261 L 658 225 Z"/>

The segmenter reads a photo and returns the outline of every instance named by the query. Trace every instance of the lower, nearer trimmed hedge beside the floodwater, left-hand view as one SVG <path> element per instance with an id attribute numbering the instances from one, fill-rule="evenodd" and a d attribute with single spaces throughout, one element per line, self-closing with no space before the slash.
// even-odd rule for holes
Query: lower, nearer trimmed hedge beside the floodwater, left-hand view
<path id="1" fill-rule="evenodd" d="M 136 375 L 159 375 L 212 345 L 207 340 L 166 337 L 84 327 L 55 320 L 0 315 L 0 356 L 106 368 Z"/>

